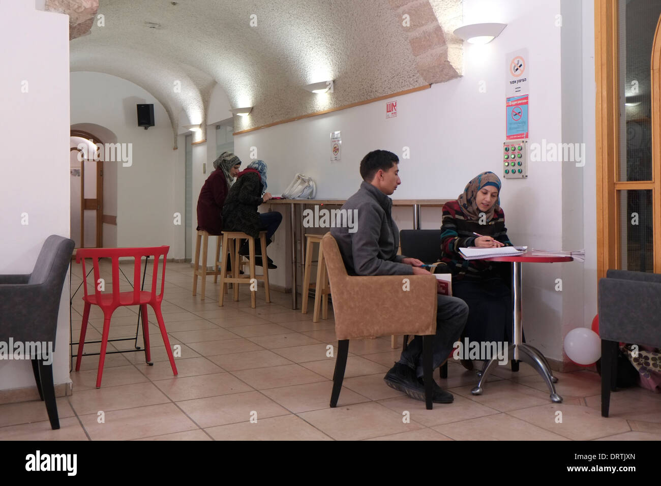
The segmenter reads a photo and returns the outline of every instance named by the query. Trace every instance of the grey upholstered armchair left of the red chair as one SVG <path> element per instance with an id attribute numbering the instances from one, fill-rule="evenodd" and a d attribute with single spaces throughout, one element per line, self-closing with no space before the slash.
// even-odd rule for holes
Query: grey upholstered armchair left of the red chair
<path id="1" fill-rule="evenodd" d="M 26 343 L 47 343 L 45 348 L 30 346 L 30 357 L 39 396 L 46 401 L 53 430 L 59 428 L 59 419 L 52 356 L 48 353 L 55 348 L 59 301 L 73 246 L 72 239 L 50 235 L 31 274 L 0 275 L 0 341 L 9 343 L 11 338 L 13 343 L 22 343 L 26 354 Z"/>

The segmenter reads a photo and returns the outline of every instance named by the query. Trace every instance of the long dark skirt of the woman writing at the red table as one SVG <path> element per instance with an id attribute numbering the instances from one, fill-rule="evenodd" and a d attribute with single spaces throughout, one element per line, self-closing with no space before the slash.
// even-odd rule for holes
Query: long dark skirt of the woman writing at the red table
<path id="1" fill-rule="evenodd" d="M 479 343 L 512 343 L 512 292 L 502 278 L 453 281 L 452 295 L 469 307 L 462 343 L 466 337 Z"/>

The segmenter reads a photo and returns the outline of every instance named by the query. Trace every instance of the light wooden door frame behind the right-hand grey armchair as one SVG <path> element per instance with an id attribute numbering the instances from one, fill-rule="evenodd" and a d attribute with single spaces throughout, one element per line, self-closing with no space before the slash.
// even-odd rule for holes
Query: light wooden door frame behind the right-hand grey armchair
<path id="1" fill-rule="evenodd" d="M 652 190 L 654 272 L 661 273 L 661 126 L 659 24 L 652 46 L 652 181 L 619 181 L 619 47 L 617 0 L 594 0 L 594 62 L 596 93 L 597 278 L 621 268 L 619 190 Z"/>

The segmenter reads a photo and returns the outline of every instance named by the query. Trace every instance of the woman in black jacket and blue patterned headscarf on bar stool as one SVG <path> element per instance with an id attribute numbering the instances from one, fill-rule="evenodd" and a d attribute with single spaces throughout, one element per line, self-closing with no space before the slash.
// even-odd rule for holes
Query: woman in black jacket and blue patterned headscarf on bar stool
<path id="1" fill-rule="evenodd" d="M 227 231 L 243 231 L 253 238 L 260 231 L 266 231 L 266 245 L 271 243 L 271 237 L 282 222 L 282 214 L 277 211 L 259 213 L 260 204 L 271 198 L 266 192 L 266 163 L 261 160 L 251 162 L 245 170 L 237 175 L 237 182 L 229 190 L 225 206 L 223 206 L 223 229 Z M 255 255 L 261 254 L 260 241 L 255 241 Z M 247 241 L 239 248 L 239 255 L 248 255 Z M 255 257 L 255 264 L 262 266 L 262 257 Z M 278 268 L 268 259 L 268 268 Z"/>

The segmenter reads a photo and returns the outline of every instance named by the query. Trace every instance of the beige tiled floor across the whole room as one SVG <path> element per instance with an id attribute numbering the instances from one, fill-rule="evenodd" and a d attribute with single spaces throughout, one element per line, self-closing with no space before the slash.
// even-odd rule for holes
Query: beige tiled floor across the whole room
<path id="1" fill-rule="evenodd" d="M 132 266 L 122 266 L 130 274 Z M 191 296 L 188 264 L 169 263 L 166 281 L 163 313 L 171 344 L 180 346 L 178 376 L 173 376 L 150 309 L 153 366 L 145 364 L 141 353 L 108 355 L 96 389 L 98 357 L 85 358 L 81 371 L 71 373 L 73 395 L 58 399 L 59 430 L 50 429 L 42 402 L 0 405 L 0 440 L 661 439 L 661 395 L 638 387 L 613 393 L 611 417 L 604 419 L 600 378 L 588 371 L 558 373 L 564 402 L 555 404 L 541 377 L 525 364 L 518 374 L 499 368 L 485 393 L 473 396 L 475 373 L 451 363 L 440 385 L 455 401 L 428 411 L 424 403 L 383 383 L 399 357 L 385 337 L 350 344 L 340 401 L 331 409 L 334 358 L 327 350 L 329 344 L 336 346 L 332 309 L 327 321 L 313 323 L 311 311 L 292 311 L 289 294 L 272 291 L 272 304 L 265 304 L 262 288 L 256 309 L 250 308 L 247 290 L 239 302 L 229 296 L 218 307 L 212 278 L 206 300 Z M 74 264 L 74 290 L 79 282 L 80 268 Z M 75 341 L 82 311 L 77 296 Z M 135 335 L 136 311 L 116 311 L 111 337 Z M 98 308 L 89 323 L 87 340 L 99 339 L 103 319 Z"/>

